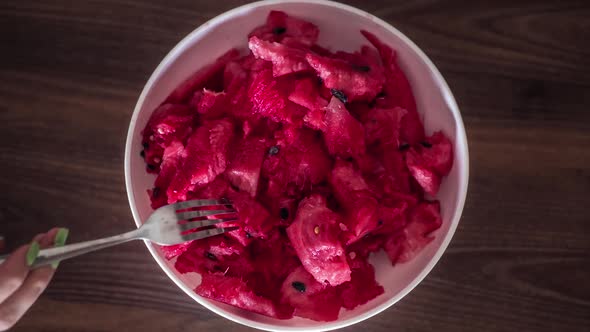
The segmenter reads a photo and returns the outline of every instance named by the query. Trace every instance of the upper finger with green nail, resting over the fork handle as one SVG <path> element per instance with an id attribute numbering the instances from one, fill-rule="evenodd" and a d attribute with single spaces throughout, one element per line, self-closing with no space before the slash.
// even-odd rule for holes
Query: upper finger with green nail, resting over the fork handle
<path id="1" fill-rule="evenodd" d="M 33 238 L 33 241 L 39 241 L 43 236 L 44 234 L 38 234 Z M 0 303 L 14 293 L 29 274 L 29 267 L 27 266 L 29 247 L 30 245 L 26 245 L 16 249 L 0 265 Z"/>

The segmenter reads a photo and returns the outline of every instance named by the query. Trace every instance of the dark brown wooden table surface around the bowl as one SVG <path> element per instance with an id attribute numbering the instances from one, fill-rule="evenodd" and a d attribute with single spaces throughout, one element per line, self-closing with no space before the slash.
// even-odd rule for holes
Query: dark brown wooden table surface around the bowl
<path id="1" fill-rule="evenodd" d="M 153 69 L 240 1 L 0 2 L 0 233 L 127 230 L 123 152 Z M 590 2 L 350 1 L 439 67 L 471 178 L 459 229 L 399 304 L 347 331 L 588 331 Z M 487 3 L 493 3 L 488 5 Z M 246 331 L 181 292 L 144 245 L 62 263 L 14 331 Z"/>

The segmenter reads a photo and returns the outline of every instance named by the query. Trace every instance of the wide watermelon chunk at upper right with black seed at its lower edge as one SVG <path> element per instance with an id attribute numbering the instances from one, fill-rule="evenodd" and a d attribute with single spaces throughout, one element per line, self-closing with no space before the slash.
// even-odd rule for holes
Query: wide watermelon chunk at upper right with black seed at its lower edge
<path id="1" fill-rule="evenodd" d="M 370 101 L 385 83 L 380 64 L 359 66 L 350 62 L 308 53 L 305 58 L 329 89 L 340 91 L 348 101 Z"/>

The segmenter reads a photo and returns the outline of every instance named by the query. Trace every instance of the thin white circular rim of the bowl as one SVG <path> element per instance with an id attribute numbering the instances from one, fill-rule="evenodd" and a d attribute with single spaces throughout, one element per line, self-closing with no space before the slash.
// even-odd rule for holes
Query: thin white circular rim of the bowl
<path id="1" fill-rule="evenodd" d="M 135 108 L 133 110 L 133 115 L 132 115 L 130 123 L 129 123 L 129 130 L 127 132 L 127 139 L 126 139 L 126 143 L 125 143 L 125 160 L 124 160 L 125 188 L 127 190 L 127 198 L 129 200 L 129 207 L 131 209 L 131 213 L 133 215 L 134 222 L 135 222 L 136 226 L 139 227 L 142 224 L 142 222 L 139 217 L 139 212 L 137 211 L 137 206 L 135 203 L 135 197 L 133 195 L 133 188 L 132 188 L 132 183 L 131 183 L 131 148 L 132 148 L 131 143 L 133 141 L 133 135 L 135 132 L 135 127 L 137 125 L 137 119 L 139 116 L 139 112 L 140 112 L 140 109 L 145 101 L 146 95 L 147 95 L 148 91 L 152 88 L 155 81 L 161 76 L 162 72 L 165 71 L 165 69 L 182 53 L 182 50 L 190 43 L 190 40 L 192 40 L 195 37 L 198 37 L 199 35 L 203 35 L 203 34 L 208 33 L 208 31 L 210 30 L 211 27 L 222 24 L 224 21 L 226 21 L 234 16 L 237 16 L 241 13 L 248 12 L 249 10 L 252 10 L 254 8 L 261 7 L 261 6 L 267 6 L 267 5 L 276 5 L 276 4 L 281 4 L 281 3 L 283 3 L 283 4 L 284 3 L 299 3 L 299 4 L 303 3 L 303 4 L 310 4 L 310 5 L 330 6 L 330 7 L 335 7 L 337 9 L 340 9 L 343 11 L 350 12 L 354 15 L 364 16 L 365 18 L 368 18 L 369 20 L 371 20 L 373 23 L 383 27 L 385 30 L 387 30 L 387 32 L 394 34 L 398 38 L 400 38 L 408 47 L 410 47 L 412 49 L 412 51 L 414 51 L 418 55 L 420 60 L 423 61 L 423 63 L 428 67 L 429 71 L 432 73 L 433 79 L 441 87 L 441 91 L 443 92 L 443 98 L 445 99 L 446 103 L 448 104 L 449 109 L 455 119 L 455 125 L 456 125 L 455 147 L 459 147 L 459 149 L 456 149 L 455 153 L 457 154 L 457 156 L 461 156 L 462 160 L 465 160 L 463 172 L 461 174 L 459 174 L 459 186 L 458 186 L 459 197 L 457 200 L 457 204 L 455 206 L 455 214 L 454 214 L 452 220 L 450 220 L 451 225 L 449 227 L 449 231 L 447 232 L 445 238 L 443 239 L 440 247 L 437 249 L 436 253 L 430 259 L 430 261 L 424 267 L 424 269 L 410 283 L 408 283 L 408 285 L 406 287 L 404 287 L 395 296 L 393 296 L 392 298 L 390 298 L 388 301 L 384 302 L 380 306 L 375 307 L 371 310 L 368 310 L 364 313 L 361 313 L 357 316 L 354 316 L 354 317 L 351 317 L 348 319 L 336 320 L 334 322 L 327 322 L 325 324 L 322 324 L 322 325 L 319 325 L 316 327 L 296 327 L 296 326 L 284 327 L 284 326 L 276 326 L 274 324 L 269 324 L 269 323 L 261 323 L 261 322 L 252 321 L 252 320 L 237 316 L 233 313 L 229 313 L 223 309 L 219 309 L 219 308 L 216 308 L 216 307 L 210 305 L 209 303 L 204 301 L 204 299 L 202 299 L 199 295 L 197 295 L 190 287 L 185 285 L 179 278 L 177 278 L 176 275 L 174 275 L 174 272 L 172 271 L 172 269 L 168 268 L 164 258 L 158 254 L 155 246 L 150 241 L 144 240 L 144 243 L 145 243 L 146 247 L 148 248 L 149 252 L 151 253 L 151 255 L 153 256 L 153 258 L 156 260 L 156 262 L 160 266 L 160 268 L 166 273 L 166 275 L 168 275 L 168 277 L 180 289 L 182 289 L 187 295 L 189 295 L 191 298 L 193 298 L 197 303 L 201 304 L 205 308 L 211 310 L 212 312 L 214 312 L 224 318 L 227 318 L 233 322 L 236 322 L 236 323 L 239 323 L 242 325 L 246 325 L 246 326 L 261 329 L 261 330 L 267 330 L 267 331 L 277 331 L 277 330 L 282 330 L 282 331 L 328 331 L 328 330 L 335 330 L 335 329 L 340 329 L 340 328 L 344 328 L 347 326 L 351 326 L 351 325 L 356 324 L 358 322 L 369 319 L 369 318 L 381 313 L 382 311 L 386 310 L 387 308 L 391 307 L 396 302 L 398 302 L 403 297 L 405 297 L 410 291 L 412 291 L 430 273 L 430 271 L 432 271 L 434 266 L 440 260 L 442 254 L 445 252 L 445 250 L 449 246 L 449 243 L 450 243 L 453 235 L 455 234 L 457 226 L 459 225 L 459 220 L 460 220 L 461 215 L 463 213 L 465 199 L 467 196 L 467 187 L 468 187 L 468 183 L 469 183 L 469 151 L 468 151 L 468 146 L 467 146 L 467 136 L 466 136 L 466 132 L 465 132 L 465 127 L 463 125 L 463 119 L 462 119 L 461 113 L 459 111 L 459 107 L 455 101 L 455 98 L 451 92 L 451 89 L 449 88 L 447 82 L 444 80 L 442 74 L 439 72 L 438 68 L 434 65 L 434 63 L 432 63 L 432 61 L 426 56 L 426 54 L 416 44 L 414 44 L 413 41 L 411 41 L 402 32 L 400 32 L 399 30 L 397 30 L 396 28 L 391 26 L 389 23 L 387 23 L 384 20 L 382 20 L 370 13 L 367 13 L 361 9 L 358 9 L 358 8 L 355 8 L 355 7 L 346 5 L 346 4 L 342 4 L 342 3 L 328 1 L 328 0 L 287 0 L 287 1 L 285 1 L 285 0 L 263 0 L 263 1 L 257 1 L 257 2 L 245 4 L 245 5 L 230 9 L 224 13 L 221 13 L 220 15 L 215 16 L 214 18 L 208 20 L 207 22 L 203 23 L 202 25 L 200 25 L 199 27 L 197 27 L 196 29 L 191 31 L 189 34 L 187 34 L 180 42 L 178 42 L 174 46 L 174 48 L 172 48 L 172 50 L 170 50 L 168 52 L 168 54 L 162 59 L 162 61 L 158 64 L 158 66 L 156 67 L 154 72 L 151 74 L 149 80 L 145 84 L 145 86 L 139 96 L 139 99 L 137 100 L 137 103 L 136 103 Z"/>

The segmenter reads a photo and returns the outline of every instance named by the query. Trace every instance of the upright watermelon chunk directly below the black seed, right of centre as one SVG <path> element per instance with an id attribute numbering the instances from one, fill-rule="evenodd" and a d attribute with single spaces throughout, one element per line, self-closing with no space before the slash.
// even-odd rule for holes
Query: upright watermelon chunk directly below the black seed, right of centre
<path id="1" fill-rule="evenodd" d="M 324 139 L 331 155 L 356 157 L 365 153 L 365 130 L 336 97 L 326 108 Z"/>

